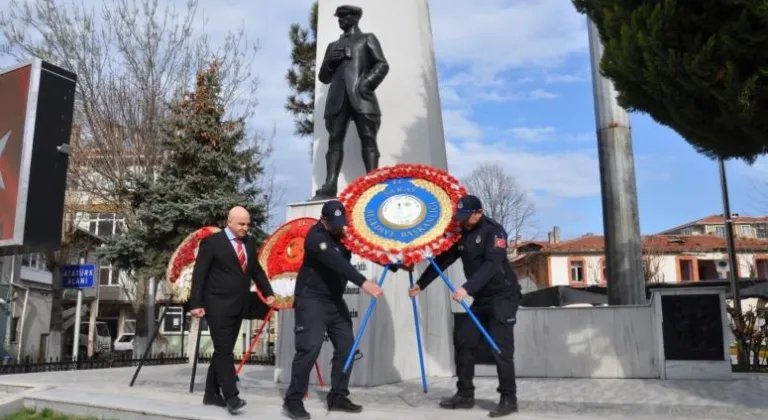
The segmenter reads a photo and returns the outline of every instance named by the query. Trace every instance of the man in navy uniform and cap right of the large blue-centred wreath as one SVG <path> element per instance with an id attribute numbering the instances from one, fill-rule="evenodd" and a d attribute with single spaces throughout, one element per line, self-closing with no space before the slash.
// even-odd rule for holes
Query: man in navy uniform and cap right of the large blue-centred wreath
<path id="1" fill-rule="evenodd" d="M 491 410 L 491 417 L 502 417 L 517 412 L 517 387 L 515 385 L 515 335 L 514 326 L 517 307 L 520 303 L 520 285 L 512 265 L 507 258 L 507 232 L 499 223 L 483 214 L 480 199 L 467 195 L 459 200 L 456 218 L 461 223 L 461 239 L 448 251 L 435 258 L 435 263 L 445 270 L 461 258 L 467 282 L 453 295 L 460 302 L 467 295 L 472 296 L 472 311 L 501 349 L 495 354 L 499 387 L 499 404 Z M 417 296 L 438 273 L 430 264 L 409 291 Z M 475 351 L 482 333 L 466 319 L 459 326 L 456 347 L 456 373 L 458 391 L 440 402 L 446 409 L 472 408 L 475 405 Z"/>

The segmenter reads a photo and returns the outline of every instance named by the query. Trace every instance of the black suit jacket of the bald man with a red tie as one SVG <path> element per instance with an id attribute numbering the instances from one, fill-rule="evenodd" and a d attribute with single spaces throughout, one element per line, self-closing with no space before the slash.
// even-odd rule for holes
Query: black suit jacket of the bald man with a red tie
<path id="1" fill-rule="evenodd" d="M 191 309 L 204 308 L 211 317 L 246 317 L 252 305 L 251 280 L 264 297 L 273 295 L 258 261 L 256 241 L 246 238 L 243 245 L 248 259 L 245 272 L 224 230 L 200 241 L 192 272 Z"/>

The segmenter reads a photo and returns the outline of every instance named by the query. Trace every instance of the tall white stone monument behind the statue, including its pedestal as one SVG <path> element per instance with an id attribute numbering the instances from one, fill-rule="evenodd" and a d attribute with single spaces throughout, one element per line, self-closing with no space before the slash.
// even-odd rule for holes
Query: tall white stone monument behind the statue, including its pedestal
<path id="1" fill-rule="evenodd" d="M 341 30 L 334 11 L 341 5 L 363 9 L 360 28 L 374 33 L 389 62 L 390 70 L 376 95 L 382 112 L 378 146 L 381 153 L 379 166 L 398 163 L 421 163 L 447 169 L 445 138 L 437 87 L 437 71 L 432 45 L 432 28 L 427 0 L 323 0 L 320 2 L 318 21 L 318 68 L 326 46 L 339 38 Z M 325 153 L 328 133 L 323 110 L 327 86 L 317 82 L 315 101 L 314 169 L 311 190 L 314 192 L 325 180 Z M 364 175 L 360 140 L 354 123 L 350 123 L 344 145 L 344 164 L 339 177 L 339 192 L 352 181 Z M 310 195 L 310 196 L 311 196 Z M 323 201 L 309 201 L 288 206 L 287 220 L 299 217 L 319 218 Z M 353 263 L 368 278 L 377 280 L 382 267 L 360 261 Z M 426 267 L 422 263 L 414 270 L 414 277 Z M 457 262 L 447 274 L 454 284 L 464 282 L 461 264 Z M 361 341 L 359 350 L 363 358 L 354 365 L 352 386 L 376 386 L 404 380 L 418 379 L 418 347 L 414 330 L 413 310 L 408 297 L 408 274 L 389 273 L 384 283 L 384 296 L 376 309 Z M 351 283 L 345 296 L 353 316 L 357 334 L 368 308 L 370 298 Z M 439 279 L 419 297 L 422 342 L 427 375 L 452 376 L 454 372 L 451 315 L 448 288 Z M 279 316 L 277 362 L 275 381 L 290 382 L 291 362 L 295 353 L 294 317 L 289 311 Z M 330 385 L 332 346 L 326 342 L 318 358 L 325 382 Z M 317 375 L 310 375 L 310 383 L 317 383 Z"/>

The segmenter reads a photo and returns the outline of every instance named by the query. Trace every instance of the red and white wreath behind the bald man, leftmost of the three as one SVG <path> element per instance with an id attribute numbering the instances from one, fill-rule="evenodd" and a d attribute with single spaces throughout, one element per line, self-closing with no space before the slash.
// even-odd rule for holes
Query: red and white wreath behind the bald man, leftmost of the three
<path id="1" fill-rule="evenodd" d="M 166 281 L 174 302 L 184 303 L 189 300 L 192 289 L 192 272 L 195 268 L 200 241 L 221 232 L 216 226 L 206 226 L 189 234 L 176 248 L 168 262 Z"/>

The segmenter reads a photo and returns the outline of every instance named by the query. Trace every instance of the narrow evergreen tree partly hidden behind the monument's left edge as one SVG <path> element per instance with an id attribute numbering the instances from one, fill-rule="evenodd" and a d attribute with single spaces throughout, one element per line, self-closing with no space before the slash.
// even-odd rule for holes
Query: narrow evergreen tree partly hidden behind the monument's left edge
<path id="1" fill-rule="evenodd" d="M 317 56 L 317 2 L 309 13 L 309 28 L 291 25 L 291 67 L 285 78 L 291 88 L 285 109 L 293 114 L 294 133 L 306 137 L 315 131 L 315 60 Z M 310 148 L 310 155 L 312 150 Z"/>

